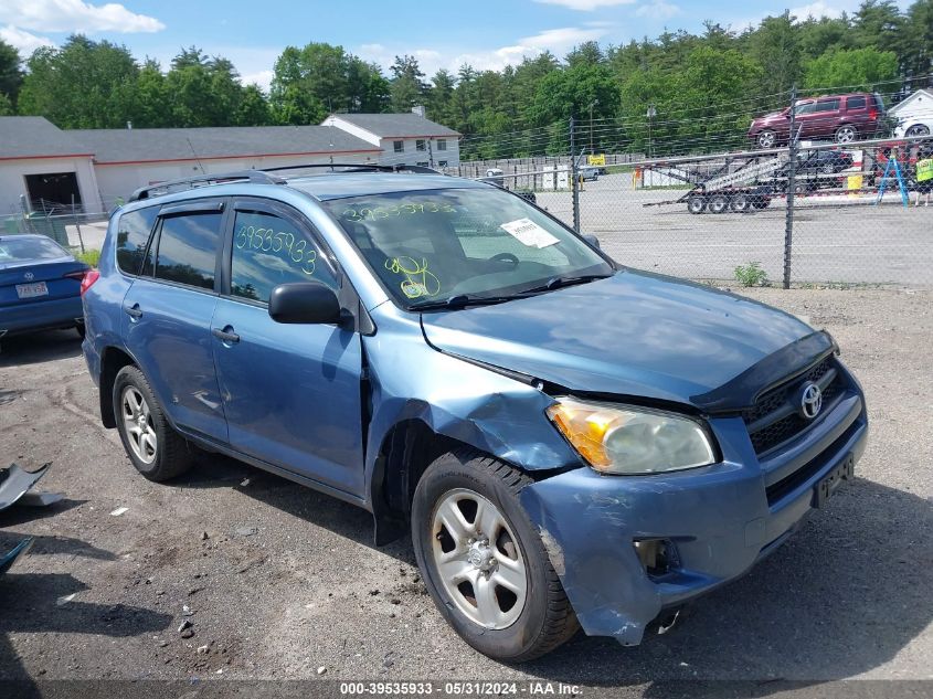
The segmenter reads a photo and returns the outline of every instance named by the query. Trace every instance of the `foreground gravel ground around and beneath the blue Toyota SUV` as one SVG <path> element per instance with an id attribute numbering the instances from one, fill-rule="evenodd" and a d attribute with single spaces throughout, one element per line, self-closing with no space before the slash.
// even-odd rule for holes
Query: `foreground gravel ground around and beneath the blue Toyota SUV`
<path id="1" fill-rule="evenodd" d="M 780 679 L 933 679 L 933 294 L 751 295 L 842 346 L 872 421 L 858 478 L 671 633 L 637 648 L 577 635 L 513 667 L 455 636 L 410 543 L 373 548 L 367 512 L 220 457 L 150 484 L 100 426 L 73 331 L 3 342 L 0 459 L 53 462 L 40 489 L 66 499 L 0 512 L 3 550 L 38 538 L 0 578 L 0 678 L 543 678 L 614 696 L 677 679 L 754 680 L 759 695 Z"/>

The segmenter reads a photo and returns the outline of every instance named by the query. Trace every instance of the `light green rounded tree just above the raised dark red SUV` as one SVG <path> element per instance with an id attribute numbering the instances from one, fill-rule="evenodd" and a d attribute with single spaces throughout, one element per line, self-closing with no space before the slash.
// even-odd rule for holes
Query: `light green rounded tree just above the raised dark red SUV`
<path id="1" fill-rule="evenodd" d="M 898 56 L 892 51 L 852 49 L 830 51 L 806 65 L 807 89 L 836 87 L 842 91 L 890 92 L 898 74 Z"/>

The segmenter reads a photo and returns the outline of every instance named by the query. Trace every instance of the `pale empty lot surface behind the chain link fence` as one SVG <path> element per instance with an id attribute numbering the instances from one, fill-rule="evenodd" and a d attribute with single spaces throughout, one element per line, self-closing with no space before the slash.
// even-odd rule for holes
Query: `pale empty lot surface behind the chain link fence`
<path id="1" fill-rule="evenodd" d="M 781 279 L 786 206 L 775 199 L 752 213 L 690 214 L 676 200 L 682 189 L 635 190 L 632 174 L 586 182 L 581 227 L 600 237 L 616 260 L 689 278 L 732 279 L 736 265 L 760 262 Z M 912 200 L 911 200 L 912 201 Z M 900 198 L 798 198 L 792 278 L 795 283 L 933 284 L 933 208 L 903 209 Z M 541 192 L 538 203 L 572 223 L 570 192 Z"/>

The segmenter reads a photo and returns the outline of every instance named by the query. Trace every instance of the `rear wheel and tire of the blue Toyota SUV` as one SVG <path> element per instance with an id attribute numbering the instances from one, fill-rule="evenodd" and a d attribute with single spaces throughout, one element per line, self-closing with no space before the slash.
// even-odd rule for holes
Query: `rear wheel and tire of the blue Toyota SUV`
<path id="1" fill-rule="evenodd" d="M 137 367 L 120 369 L 114 380 L 113 399 L 117 432 L 136 470 L 149 480 L 161 483 L 191 468 L 194 451 L 172 430 Z"/>

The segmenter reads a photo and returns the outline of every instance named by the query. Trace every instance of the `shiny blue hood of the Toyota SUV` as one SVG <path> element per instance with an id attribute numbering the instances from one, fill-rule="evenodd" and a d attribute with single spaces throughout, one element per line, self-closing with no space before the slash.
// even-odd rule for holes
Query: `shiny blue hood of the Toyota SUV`
<path id="1" fill-rule="evenodd" d="M 571 391 L 698 406 L 814 333 L 764 304 L 630 269 L 496 306 L 423 314 L 422 326 L 441 351 Z"/>

